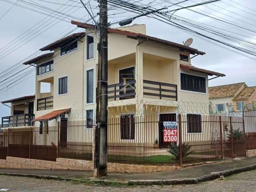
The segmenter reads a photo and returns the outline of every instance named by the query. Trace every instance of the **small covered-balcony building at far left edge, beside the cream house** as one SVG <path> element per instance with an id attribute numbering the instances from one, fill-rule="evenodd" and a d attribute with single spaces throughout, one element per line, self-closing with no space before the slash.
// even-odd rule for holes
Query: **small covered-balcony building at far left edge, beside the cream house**
<path id="1" fill-rule="evenodd" d="M 2 117 L 2 127 L 29 126 L 34 119 L 35 96 L 23 96 L 11 100 L 2 101 L 2 104 L 10 103 L 10 116 Z"/>

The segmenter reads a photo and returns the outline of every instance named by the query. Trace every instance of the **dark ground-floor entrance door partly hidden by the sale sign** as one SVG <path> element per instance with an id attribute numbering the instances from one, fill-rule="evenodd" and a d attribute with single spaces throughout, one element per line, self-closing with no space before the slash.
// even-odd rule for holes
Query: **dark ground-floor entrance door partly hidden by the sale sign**
<path id="1" fill-rule="evenodd" d="M 169 142 L 163 142 L 163 130 L 164 130 L 164 122 L 165 121 L 176 121 L 176 113 L 172 114 L 160 114 L 159 115 L 159 147 L 168 147 L 170 146 Z"/>

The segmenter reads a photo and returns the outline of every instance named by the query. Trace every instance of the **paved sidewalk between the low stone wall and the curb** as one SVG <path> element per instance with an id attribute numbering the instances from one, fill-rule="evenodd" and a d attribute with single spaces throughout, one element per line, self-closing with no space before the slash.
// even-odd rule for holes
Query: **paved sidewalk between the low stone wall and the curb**
<path id="1" fill-rule="evenodd" d="M 112 181 L 129 181 L 129 180 L 168 180 L 168 179 L 184 179 L 196 178 L 214 172 L 229 170 L 232 168 L 240 168 L 256 164 L 256 157 L 251 158 L 236 158 L 234 160 L 225 160 L 211 164 L 203 164 L 193 167 L 186 167 L 180 170 L 172 170 L 166 172 L 155 173 L 109 173 L 107 180 Z M 75 171 L 75 170 L 29 170 L 29 169 L 4 169 L 0 168 L 2 173 L 18 173 L 18 174 L 34 174 L 46 176 L 58 176 L 66 178 L 91 178 L 90 171 Z"/>

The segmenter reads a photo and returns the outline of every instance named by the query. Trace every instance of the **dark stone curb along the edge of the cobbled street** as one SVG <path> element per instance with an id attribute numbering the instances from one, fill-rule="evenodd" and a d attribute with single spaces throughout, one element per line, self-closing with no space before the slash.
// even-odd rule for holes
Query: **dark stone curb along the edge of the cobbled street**
<path id="1" fill-rule="evenodd" d="M 2 173 L 2 172 L 0 172 L 0 175 L 30 177 L 30 178 L 47 179 L 47 180 L 73 181 L 73 182 L 81 182 L 81 183 L 87 183 L 87 184 L 101 184 L 106 186 L 149 186 L 149 185 L 198 184 L 199 182 L 218 179 L 220 178 L 220 176 L 230 176 L 232 174 L 251 171 L 255 169 L 256 169 L 256 164 L 253 164 L 253 165 L 244 166 L 240 168 L 233 168 L 233 169 L 224 170 L 221 172 L 207 174 L 198 178 L 169 179 L 169 180 L 130 180 L 128 182 L 110 181 L 106 179 L 92 179 L 92 178 L 75 179 L 75 178 L 65 178 L 65 177 L 58 177 L 58 176 Z"/>

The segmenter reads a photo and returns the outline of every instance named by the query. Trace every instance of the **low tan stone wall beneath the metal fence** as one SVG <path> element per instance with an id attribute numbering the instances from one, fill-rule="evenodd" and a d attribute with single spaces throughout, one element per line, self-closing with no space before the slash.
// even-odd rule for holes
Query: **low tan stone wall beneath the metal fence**
<path id="1" fill-rule="evenodd" d="M 18 157 L 7 157 L 6 160 L 0 160 L 0 168 L 16 169 L 62 169 L 62 170 L 93 170 L 93 161 L 57 158 L 54 161 L 25 159 Z M 150 173 L 174 170 L 176 166 L 143 166 L 108 163 L 108 172 L 127 172 L 127 173 Z"/>

